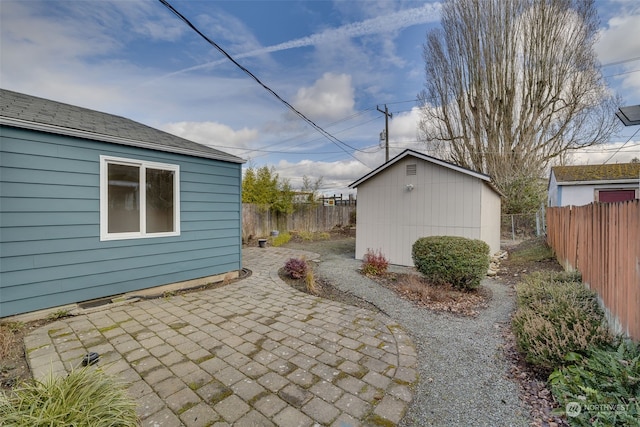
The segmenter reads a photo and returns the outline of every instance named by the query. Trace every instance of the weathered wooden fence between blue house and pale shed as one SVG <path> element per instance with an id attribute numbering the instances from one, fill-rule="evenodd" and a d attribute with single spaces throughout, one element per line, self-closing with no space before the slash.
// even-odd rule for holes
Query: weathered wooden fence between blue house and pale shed
<path id="1" fill-rule="evenodd" d="M 289 215 L 264 211 L 259 206 L 242 204 L 242 240 L 267 237 L 272 230 L 329 231 L 350 225 L 355 220 L 355 205 L 300 205 Z"/>

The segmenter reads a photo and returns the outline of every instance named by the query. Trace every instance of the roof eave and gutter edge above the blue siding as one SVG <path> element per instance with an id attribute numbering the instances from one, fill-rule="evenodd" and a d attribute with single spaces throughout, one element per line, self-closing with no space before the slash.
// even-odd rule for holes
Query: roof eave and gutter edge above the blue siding
<path id="1" fill-rule="evenodd" d="M 232 155 L 225 156 L 225 155 L 219 155 L 214 153 L 207 153 L 203 151 L 191 150 L 188 148 L 154 144 L 151 142 L 139 141 L 135 139 L 121 138 L 117 136 L 104 135 L 100 133 L 88 132 L 88 131 L 79 130 L 79 129 L 31 122 L 28 120 L 21 120 L 13 117 L 4 117 L 4 116 L 0 117 L 0 125 L 35 130 L 40 132 L 54 133 L 58 135 L 71 136 L 75 138 L 91 139 L 94 141 L 110 142 L 113 144 L 128 145 L 131 147 L 146 148 L 150 150 L 164 151 L 168 153 L 185 154 L 188 156 L 201 157 L 201 158 L 206 158 L 211 160 L 221 160 L 221 161 L 231 162 L 231 163 L 246 163 L 246 160 L 240 157 L 232 156 Z"/>

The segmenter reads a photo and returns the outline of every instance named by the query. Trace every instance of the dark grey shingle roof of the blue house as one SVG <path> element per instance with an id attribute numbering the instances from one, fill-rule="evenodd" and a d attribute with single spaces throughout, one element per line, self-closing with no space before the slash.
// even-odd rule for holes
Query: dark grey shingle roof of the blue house
<path id="1" fill-rule="evenodd" d="M 151 150 L 244 163 L 240 157 L 113 114 L 0 89 L 0 124 Z"/>

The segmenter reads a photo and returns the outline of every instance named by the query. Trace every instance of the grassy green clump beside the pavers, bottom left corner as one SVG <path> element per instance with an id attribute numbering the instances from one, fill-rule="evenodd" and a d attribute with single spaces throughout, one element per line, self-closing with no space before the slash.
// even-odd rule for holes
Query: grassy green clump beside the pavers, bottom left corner
<path id="1" fill-rule="evenodd" d="M 124 385 L 94 367 L 0 393 L 0 420 L 15 427 L 138 426 L 136 403 Z"/>

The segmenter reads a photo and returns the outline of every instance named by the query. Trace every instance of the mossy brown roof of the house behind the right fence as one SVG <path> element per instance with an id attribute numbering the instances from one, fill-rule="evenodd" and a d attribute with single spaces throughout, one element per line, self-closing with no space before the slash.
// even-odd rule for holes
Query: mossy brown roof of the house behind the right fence
<path id="1" fill-rule="evenodd" d="M 554 166 L 551 171 L 557 182 L 637 180 L 640 163 Z"/>

